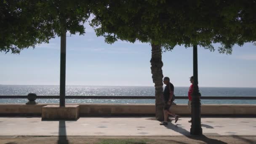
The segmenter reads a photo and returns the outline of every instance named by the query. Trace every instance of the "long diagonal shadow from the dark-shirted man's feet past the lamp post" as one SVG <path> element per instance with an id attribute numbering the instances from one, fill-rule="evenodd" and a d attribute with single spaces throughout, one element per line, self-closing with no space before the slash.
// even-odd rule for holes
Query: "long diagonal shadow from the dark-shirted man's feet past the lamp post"
<path id="1" fill-rule="evenodd" d="M 177 125 L 174 125 L 173 123 L 168 123 L 168 125 L 165 125 L 165 127 L 168 128 L 168 129 L 171 129 L 173 131 L 176 131 L 178 133 L 181 133 L 182 135 L 186 136 L 189 139 L 203 141 L 206 144 L 227 144 L 224 141 L 220 141 L 220 140 L 217 140 L 217 139 L 210 139 L 210 138 L 206 137 L 205 135 L 202 135 L 202 136 L 190 135 L 189 131 L 187 131 L 184 128 L 178 127 Z"/>

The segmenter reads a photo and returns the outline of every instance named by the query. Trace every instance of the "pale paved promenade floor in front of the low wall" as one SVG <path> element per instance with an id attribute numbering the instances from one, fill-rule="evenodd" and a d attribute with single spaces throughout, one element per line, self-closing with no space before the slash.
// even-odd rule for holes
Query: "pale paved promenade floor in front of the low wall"
<path id="1" fill-rule="evenodd" d="M 80 117 L 42 121 L 41 117 L 0 117 L 0 136 L 190 136 L 189 117 L 159 125 L 152 117 Z M 202 117 L 205 136 L 256 136 L 256 118 Z"/>

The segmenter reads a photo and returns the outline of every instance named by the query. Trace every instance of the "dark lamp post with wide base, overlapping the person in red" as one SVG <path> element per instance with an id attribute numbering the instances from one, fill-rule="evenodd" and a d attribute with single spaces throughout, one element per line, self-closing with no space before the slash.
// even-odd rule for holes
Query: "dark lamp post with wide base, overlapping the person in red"
<path id="1" fill-rule="evenodd" d="M 192 135 L 202 135 L 203 131 L 201 128 L 201 103 L 199 98 L 199 88 L 198 88 L 198 74 L 197 74 L 197 45 L 193 45 L 193 75 L 194 84 L 192 92 L 192 125 L 190 128 L 190 134 Z"/>

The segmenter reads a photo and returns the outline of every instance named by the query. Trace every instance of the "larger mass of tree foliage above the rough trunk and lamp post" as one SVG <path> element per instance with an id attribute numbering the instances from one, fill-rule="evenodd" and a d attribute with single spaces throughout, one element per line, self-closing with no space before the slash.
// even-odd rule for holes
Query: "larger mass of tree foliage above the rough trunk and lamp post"
<path id="1" fill-rule="evenodd" d="M 107 43 L 117 39 L 160 44 L 200 45 L 220 53 L 256 40 L 255 0 L 104 0 L 95 2 L 91 25 Z"/>

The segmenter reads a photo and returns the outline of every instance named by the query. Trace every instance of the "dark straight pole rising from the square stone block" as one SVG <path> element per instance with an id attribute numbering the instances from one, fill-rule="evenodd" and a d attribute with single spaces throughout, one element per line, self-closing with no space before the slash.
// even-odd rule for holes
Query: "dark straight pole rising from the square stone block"
<path id="1" fill-rule="evenodd" d="M 61 29 L 61 67 L 60 67 L 60 88 L 59 106 L 65 107 L 66 87 L 66 30 Z"/>

